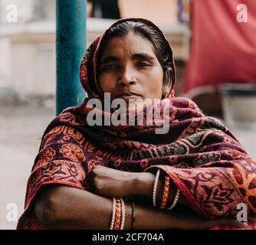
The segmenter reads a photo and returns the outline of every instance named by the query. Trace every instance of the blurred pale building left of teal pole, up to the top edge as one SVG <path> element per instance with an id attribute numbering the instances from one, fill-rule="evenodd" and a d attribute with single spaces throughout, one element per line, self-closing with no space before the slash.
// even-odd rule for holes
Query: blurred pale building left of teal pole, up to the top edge
<path id="1" fill-rule="evenodd" d="M 0 96 L 27 100 L 54 96 L 54 0 L 1 1 Z M 8 5 L 17 6 L 17 22 L 8 22 Z"/>

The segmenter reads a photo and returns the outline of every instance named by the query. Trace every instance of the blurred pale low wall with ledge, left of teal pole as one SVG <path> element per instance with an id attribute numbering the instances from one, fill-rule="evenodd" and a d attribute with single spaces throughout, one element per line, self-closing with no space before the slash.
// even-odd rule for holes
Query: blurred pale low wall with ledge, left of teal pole
<path id="1" fill-rule="evenodd" d="M 0 31 L 0 40 L 2 87 L 10 88 L 20 99 L 54 96 L 54 22 L 7 25 Z"/>

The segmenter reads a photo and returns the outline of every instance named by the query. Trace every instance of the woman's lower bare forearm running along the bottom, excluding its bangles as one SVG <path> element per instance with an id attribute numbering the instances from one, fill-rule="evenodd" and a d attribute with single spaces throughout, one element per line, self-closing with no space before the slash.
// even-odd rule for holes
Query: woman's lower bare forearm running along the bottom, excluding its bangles
<path id="1" fill-rule="evenodd" d="M 50 204 L 45 204 L 47 202 Z M 159 210 L 137 203 L 135 207 L 134 229 L 208 229 L 222 224 L 245 227 L 235 220 L 204 220 L 191 211 Z M 107 230 L 112 218 L 112 200 L 77 188 L 54 185 L 41 192 L 34 204 L 34 211 L 50 229 Z M 132 215 L 131 204 L 126 202 L 125 230 L 132 227 Z"/>

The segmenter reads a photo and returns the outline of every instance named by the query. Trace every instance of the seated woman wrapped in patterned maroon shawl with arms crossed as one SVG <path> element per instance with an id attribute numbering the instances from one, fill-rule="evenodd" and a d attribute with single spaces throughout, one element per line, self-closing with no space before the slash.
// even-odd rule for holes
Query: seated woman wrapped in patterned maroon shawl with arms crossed
<path id="1" fill-rule="evenodd" d="M 246 204 L 254 217 L 255 162 L 222 123 L 174 96 L 172 48 L 156 25 L 114 23 L 84 54 L 80 80 L 88 98 L 44 132 L 19 229 L 247 227 L 236 220 L 237 206 Z M 120 109 L 107 108 L 106 94 L 126 102 L 119 116 L 141 121 L 106 123 Z M 156 133 L 159 118 L 146 117 L 157 108 L 165 117 L 168 109 L 164 133 Z M 92 112 L 105 125 L 92 126 Z"/>

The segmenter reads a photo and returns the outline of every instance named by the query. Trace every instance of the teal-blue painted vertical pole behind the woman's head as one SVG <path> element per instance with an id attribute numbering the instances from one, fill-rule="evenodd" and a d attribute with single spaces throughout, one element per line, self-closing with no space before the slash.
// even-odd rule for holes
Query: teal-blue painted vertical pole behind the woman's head
<path id="1" fill-rule="evenodd" d="M 81 103 L 80 60 L 86 49 L 87 0 L 56 1 L 56 113 Z"/>

